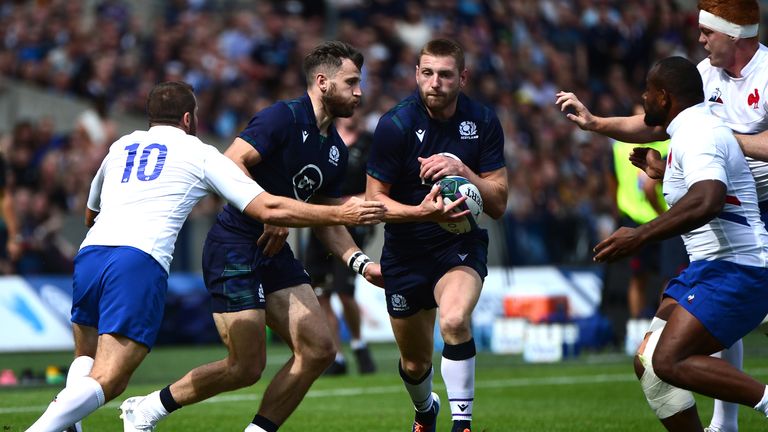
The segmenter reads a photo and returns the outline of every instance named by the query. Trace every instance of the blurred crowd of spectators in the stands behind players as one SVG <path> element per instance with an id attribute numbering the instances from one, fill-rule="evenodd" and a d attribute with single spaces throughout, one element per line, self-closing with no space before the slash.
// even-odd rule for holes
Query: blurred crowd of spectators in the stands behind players
<path id="1" fill-rule="evenodd" d="M 259 109 L 303 93 L 303 54 L 340 39 L 365 54 L 362 111 L 372 130 L 415 90 L 416 54 L 435 37 L 462 44 L 466 92 L 495 108 L 504 128 L 505 262 L 589 262 L 615 223 L 604 185 L 610 142 L 571 125 L 554 95 L 573 91 L 598 115 L 631 114 L 655 60 L 705 56 L 696 22 L 695 2 L 674 0 L 2 2 L 0 73 L 95 107 L 65 136 L 45 120 L 3 131 L 20 238 L 48 236 L 26 250 L 60 255 L 19 261 L 15 271 L 71 265 L 73 246 L 55 239 L 57 215 L 82 212 L 115 138 L 110 115 L 143 115 L 155 83 L 192 84 L 200 132 L 229 142 Z"/>

